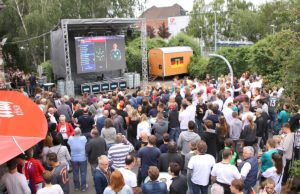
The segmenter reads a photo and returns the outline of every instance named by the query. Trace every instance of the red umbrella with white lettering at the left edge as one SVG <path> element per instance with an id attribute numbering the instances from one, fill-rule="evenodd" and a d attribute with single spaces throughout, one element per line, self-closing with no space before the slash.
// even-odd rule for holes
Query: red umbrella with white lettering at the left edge
<path id="1" fill-rule="evenodd" d="M 43 140 L 47 130 L 43 112 L 30 98 L 0 91 L 0 165 Z"/>

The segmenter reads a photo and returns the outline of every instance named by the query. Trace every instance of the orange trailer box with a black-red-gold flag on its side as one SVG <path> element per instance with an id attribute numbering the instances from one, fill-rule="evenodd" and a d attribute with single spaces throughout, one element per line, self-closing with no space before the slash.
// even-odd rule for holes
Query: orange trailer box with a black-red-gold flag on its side
<path id="1" fill-rule="evenodd" d="M 193 50 L 191 47 L 164 47 L 149 51 L 150 75 L 166 77 L 188 73 Z"/>

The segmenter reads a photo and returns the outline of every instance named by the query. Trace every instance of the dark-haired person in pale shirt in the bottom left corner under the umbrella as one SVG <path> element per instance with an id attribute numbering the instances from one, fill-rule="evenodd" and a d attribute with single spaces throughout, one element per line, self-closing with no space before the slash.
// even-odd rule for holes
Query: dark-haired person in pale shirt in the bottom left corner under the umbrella
<path id="1" fill-rule="evenodd" d="M 8 172 L 3 175 L 0 185 L 4 184 L 7 192 L 11 194 L 31 194 L 24 174 L 17 170 L 17 160 L 12 159 L 6 163 Z"/>

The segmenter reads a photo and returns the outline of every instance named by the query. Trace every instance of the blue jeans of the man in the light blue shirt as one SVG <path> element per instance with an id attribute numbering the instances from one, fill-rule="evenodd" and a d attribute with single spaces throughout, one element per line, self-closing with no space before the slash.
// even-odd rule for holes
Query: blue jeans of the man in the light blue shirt
<path id="1" fill-rule="evenodd" d="M 72 161 L 72 167 L 75 189 L 86 189 L 87 161 Z M 79 172 L 81 184 L 79 181 Z"/>

